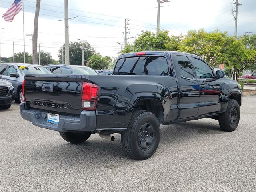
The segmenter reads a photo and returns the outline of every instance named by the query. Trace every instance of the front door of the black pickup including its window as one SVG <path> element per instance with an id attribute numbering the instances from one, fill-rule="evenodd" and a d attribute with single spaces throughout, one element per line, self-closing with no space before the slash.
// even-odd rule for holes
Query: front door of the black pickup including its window
<path id="1" fill-rule="evenodd" d="M 199 84 L 200 98 L 197 115 L 217 113 L 220 111 L 222 82 L 214 77 L 212 68 L 199 58 L 191 57 Z"/>

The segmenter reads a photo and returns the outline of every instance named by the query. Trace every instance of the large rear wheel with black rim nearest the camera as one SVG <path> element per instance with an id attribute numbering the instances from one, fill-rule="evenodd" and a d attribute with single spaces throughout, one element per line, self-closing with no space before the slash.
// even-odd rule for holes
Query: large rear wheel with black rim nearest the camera
<path id="1" fill-rule="evenodd" d="M 160 124 L 156 116 L 148 111 L 134 112 L 127 130 L 121 134 L 122 148 L 135 160 L 150 158 L 156 151 L 159 141 Z"/>

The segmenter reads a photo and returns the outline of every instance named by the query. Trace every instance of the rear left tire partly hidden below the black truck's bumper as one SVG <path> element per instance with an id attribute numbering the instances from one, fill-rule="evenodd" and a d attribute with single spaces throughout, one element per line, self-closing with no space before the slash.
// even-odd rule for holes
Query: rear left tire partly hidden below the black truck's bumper
<path id="1" fill-rule="evenodd" d="M 73 132 L 60 132 L 60 136 L 70 143 L 85 142 L 92 133 L 73 133 Z"/>

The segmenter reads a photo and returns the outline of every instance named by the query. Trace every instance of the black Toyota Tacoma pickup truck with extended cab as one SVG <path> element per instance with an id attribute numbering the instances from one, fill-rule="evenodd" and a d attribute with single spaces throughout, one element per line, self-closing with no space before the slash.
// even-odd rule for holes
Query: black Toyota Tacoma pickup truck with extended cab
<path id="1" fill-rule="evenodd" d="M 120 133 L 128 156 L 145 160 L 158 147 L 160 124 L 213 118 L 224 131 L 236 129 L 242 91 L 224 75 L 188 53 L 122 54 L 112 75 L 25 76 L 20 114 L 70 143 Z"/>

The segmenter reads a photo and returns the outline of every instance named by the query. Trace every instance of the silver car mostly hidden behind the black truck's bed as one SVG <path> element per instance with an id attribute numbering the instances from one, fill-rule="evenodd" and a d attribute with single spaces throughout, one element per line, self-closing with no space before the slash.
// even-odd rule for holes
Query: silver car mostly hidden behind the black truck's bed
<path id="1" fill-rule="evenodd" d="M 74 75 L 98 75 L 96 71 L 94 71 L 90 67 L 82 66 L 82 65 L 61 65 L 61 64 L 53 64 L 45 66 L 50 72 L 53 74 L 74 74 Z"/>

